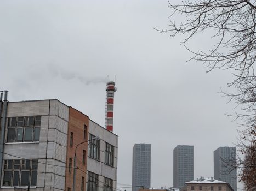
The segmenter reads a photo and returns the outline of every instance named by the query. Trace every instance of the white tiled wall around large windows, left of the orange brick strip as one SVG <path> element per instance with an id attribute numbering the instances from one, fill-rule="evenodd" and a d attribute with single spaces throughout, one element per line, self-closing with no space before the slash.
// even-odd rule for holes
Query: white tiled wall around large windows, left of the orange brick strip
<path id="1" fill-rule="evenodd" d="M 33 190 L 52 191 L 54 188 L 54 190 L 63 191 L 69 107 L 58 100 L 50 100 L 50 111 L 49 100 L 8 103 L 8 117 L 35 115 L 42 116 L 39 143 L 5 144 L 4 152 L 21 158 L 39 159 L 37 188 Z M 48 159 L 45 160 L 45 157 Z M 14 159 L 14 157 L 4 154 L 4 159 Z M 42 163 L 46 162 L 53 165 L 46 165 L 45 169 L 45 164 Z M 1 190 L 13 191 L 13 188 L 2 188 Z"/>

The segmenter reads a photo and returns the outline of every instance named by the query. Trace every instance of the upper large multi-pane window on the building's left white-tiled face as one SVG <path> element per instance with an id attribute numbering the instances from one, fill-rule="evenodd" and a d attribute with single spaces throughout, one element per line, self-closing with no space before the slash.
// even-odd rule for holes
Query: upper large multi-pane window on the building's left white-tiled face
<path id="1" fill-rule="evenodd" d="M 41 116 L 10 117 L 7 122 L 7 142 L 39 141 Z"/>

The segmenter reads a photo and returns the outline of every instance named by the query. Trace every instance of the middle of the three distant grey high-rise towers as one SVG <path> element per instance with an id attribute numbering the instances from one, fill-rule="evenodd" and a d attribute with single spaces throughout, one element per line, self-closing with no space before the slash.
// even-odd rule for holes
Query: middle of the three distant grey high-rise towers
<path id="1" fill-rule="evenodd" d="M 194 180 L 194 146 L 177 145 L 173 150 L 173 187 Z"/>

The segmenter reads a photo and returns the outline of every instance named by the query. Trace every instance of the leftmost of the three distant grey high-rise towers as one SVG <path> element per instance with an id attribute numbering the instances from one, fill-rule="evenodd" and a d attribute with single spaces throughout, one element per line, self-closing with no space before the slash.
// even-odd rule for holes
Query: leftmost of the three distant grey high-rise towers
<path id="1" fill-rule="evenodd" d="M 138 191 L 140 186 L 150 188 L 151 145 L 135 144 L 133 146 L 133 177 L 132 191 Z"/>

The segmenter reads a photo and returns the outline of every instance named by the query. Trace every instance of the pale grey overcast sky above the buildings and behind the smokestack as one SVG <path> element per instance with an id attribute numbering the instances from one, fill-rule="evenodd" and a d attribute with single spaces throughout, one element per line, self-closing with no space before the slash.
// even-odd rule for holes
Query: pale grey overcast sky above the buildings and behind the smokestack
<path id="1" fill-rule="evenodd" d="M 153 29 L 168 28 L 170 13 L 167 0 L 2 0 L 0 87 L 9 101 L 56 98 L 104 126 L 105 82 L 116 75 L 118 183 L 132 184 L 135 143 L 152 145 L 151 187 L 173 185 L 177 145 L 194 145 L 195 178 L 213 177 L 213 151 L 238 135 L 224 115 L 235 105 L 218 93 L 232 76 L 186 62 L 183 37 Z M 189 46 L 208 47 L 207 37 Z"/>

